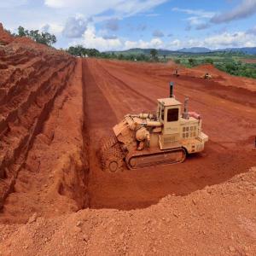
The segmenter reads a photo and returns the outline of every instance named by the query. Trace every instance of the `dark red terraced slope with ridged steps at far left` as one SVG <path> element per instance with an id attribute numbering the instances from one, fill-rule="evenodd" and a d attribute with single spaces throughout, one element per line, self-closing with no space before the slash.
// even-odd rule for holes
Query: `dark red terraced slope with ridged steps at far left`
<path id="1" fill-rule="evenodd" d="M 0 48 L 0 207 L 76 63 L 61 51 L 27 43 Z"/>

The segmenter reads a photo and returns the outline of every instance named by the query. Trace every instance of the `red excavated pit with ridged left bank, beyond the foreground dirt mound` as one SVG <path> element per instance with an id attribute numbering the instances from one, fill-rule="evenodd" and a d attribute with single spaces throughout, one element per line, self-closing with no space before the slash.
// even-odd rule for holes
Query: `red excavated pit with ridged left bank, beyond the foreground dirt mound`
<path id="1" fill-rule="evenodd" d="M 13 42 L 0 55 L 2 224 L 26 223 L 33 212 L 53 218 L 86 208 L 143 209 L 255 165 L 255 91 L 216 81 L 213 93 L 207 81 L 188 79 L 196 70 L 176 78 L 165 65 L 76 60 L 32 42 Z M 175 96 L 189 96 L 189 108 L 201 113 L 206 150 L 182 164 L 102 172 L 101 138 L 126 113 L 156 108 L 170 79 Z"/>

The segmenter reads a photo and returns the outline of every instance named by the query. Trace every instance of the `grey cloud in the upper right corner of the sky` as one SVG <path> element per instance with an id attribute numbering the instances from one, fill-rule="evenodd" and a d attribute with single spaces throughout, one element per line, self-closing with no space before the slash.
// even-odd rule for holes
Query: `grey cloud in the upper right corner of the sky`
<path id="1" fill-rule="evenodd" d="M 223 14 L 214 15 L 213 23 L 224 23 L 232 20 L 241 20 L 256 14 L 256 0 L 242 0 L 235 9 Z"/>

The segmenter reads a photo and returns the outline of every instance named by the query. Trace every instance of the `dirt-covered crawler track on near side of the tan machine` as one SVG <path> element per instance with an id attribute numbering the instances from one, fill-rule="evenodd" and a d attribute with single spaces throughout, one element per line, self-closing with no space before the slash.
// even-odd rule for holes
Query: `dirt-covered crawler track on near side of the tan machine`
<path id="1" fill-rule="evenodd" d="M 172 148 L 155 152 L 135 151 L 126 155 L 125 162 L 129 169 L 138 169 L 182 163 L 185 159 L 186 151 L 183 148 Z"/>

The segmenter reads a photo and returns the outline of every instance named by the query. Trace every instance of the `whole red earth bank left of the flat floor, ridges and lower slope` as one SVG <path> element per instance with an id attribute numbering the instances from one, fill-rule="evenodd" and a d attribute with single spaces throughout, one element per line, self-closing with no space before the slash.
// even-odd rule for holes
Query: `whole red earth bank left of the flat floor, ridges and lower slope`
<path id="1" fill-rule="evenodd" d="M 54 216 L 87 207 L 81 63 L 34 43 L 9 44 L 0 55 L 0 220 L 24 222 L 31 212 Z M 50 210 L 58 195 L 67 201 Z"/>

